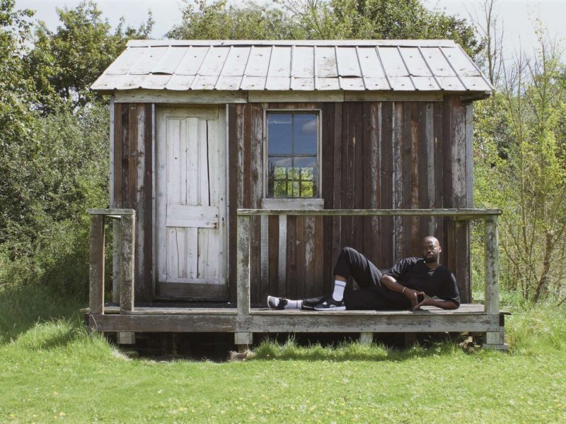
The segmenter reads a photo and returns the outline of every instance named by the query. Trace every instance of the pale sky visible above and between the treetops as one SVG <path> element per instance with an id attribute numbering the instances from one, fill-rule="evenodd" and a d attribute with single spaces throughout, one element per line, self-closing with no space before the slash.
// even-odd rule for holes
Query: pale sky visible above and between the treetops
<path id="1" fill-rule="evenodd" d="M 449 15 L 470 18 L 470 14 L 479 14 L 483 0 L 422 0 L 431 10 L 445 11 Z M 57 28 L 57 7 L 75 7 L 80 0 L 16 0 L 16 8 L 32 8 L 35 18 L 44 20 L 52 30 Z M 265 2 L 265 0 L 262 0 Z M 117 25 L 121 16 L 126 18 L 127 25 L 139 27 L 147 20 L 151 10 L 154 15 L 152 38 L 163 38 L 173 25 L 181 22 L 180 9 L 183 0 L 98 0 L 98 8 L 113 26 Z M 238 1 L 232 0 L 232 4 Z M 498 0 L 495 11 L 502 19 L 504 27 L 504 45 L 507 52 L 533 52 L 536 47 L 536 36 L 533 20 L 540 18 L 548 34 L 562 40 L 566 45 L 566 0 Z M 562 54 L 566 59 L 566 52 Z"/>

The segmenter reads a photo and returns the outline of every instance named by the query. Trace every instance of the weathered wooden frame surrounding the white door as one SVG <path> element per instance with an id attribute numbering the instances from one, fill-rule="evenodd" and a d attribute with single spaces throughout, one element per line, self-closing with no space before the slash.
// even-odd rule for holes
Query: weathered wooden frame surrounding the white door
<path id="1" fill-rule="evenodd" d="M 195 112 L 191 117 L 202 117 L 209 119 L 216 119 L 218 122 L 219 146 L 224 143 L 224 160 L 219 158 L 219 163 L 224 162 L 225 171 L 224 175 L 219 175 L 221 178 L 221 187 L 224 187 L 224 217 L 225 217 L 225 228 L 224 228 L 224 246 L 226 247 L 224 253 L 224 277 L 226 278 L 225 284 L 218 284 L 218 290 L 210 290 L 213 288 L 213 284 L 200 284 L 200 283 L 168 283 L 160 282 L 158 264 L 160 258 L 158 257 L 158 228 L 161 221 L 165 220 L 165 217 L 160 216 L 159 213 L 159 201 L 166 201 L 166 199 L 161 199 L 158 194 L 158 182 L 159 182 L 159 156 L 161 151 L 159 150 L 164 146 L 164 140 L 160 139 L 160 117 L 161 112 L 165 110 L 191 110 L 198 109 L 201 112 L 205 110 L 204 113 L 199 114 Z M 168 104 L 155 104 L 154 106 L 154 257 L 153 257 L 153 269 L 154 269 L 154 299 L 155 300 L 208 300 L 217 302 L 227 302 L 229 300 L 229 283 L 230 283 L 230 232 L 229 232 L 229 189 L 228 189 L 228 177 L 229 177 L 229 132 L 228 132 L 228 117 L 227 117 L 227 105 L 168 105 Z M 222 139 L 222 134 L 224 133 L 224 140 Z M 160 143 L 161 141 L 161 143 Z M 161 146 L 160 146 L 161 145 Z M 222 180 L 223 179 L 223 180 Z M 201 295 L 200 292 L 203 288 L 207 288 L 207 295 Z"/>

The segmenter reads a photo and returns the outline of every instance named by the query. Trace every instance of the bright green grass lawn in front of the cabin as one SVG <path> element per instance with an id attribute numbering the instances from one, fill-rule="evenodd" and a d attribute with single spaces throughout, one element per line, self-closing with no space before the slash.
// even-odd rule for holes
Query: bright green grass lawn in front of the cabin
<path id="1" fill-rule="evenodd" d="M 510 353 L 264 343 L 226 363 L 129 359 L 79 319 L 8 322 L 1 423 L 566 422 L 564 309 L 515 311 Z"/>

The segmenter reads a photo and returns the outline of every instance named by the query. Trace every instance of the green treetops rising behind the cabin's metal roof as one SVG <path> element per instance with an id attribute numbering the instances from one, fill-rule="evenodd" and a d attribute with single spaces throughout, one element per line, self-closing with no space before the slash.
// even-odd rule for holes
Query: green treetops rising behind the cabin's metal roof
<path id="1" fill-rule="evenodd" d="M 185 0 L 183 23 L 168 37 L 187 40 L 456 40 L 475 56 L 483 49 L 473 26 L 430 12 L 421 0 L 279 0 L 277 6 L 226 0 L 197 7 Z"/>

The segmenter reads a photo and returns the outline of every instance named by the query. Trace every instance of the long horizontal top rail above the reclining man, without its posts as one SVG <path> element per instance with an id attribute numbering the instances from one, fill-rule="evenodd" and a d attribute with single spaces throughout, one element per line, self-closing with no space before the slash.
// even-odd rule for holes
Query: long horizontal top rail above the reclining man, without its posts
<path id="1" fill-rule="evenodd" d="M 472 220 L 501 215 L 501 209 L 238 209 L 238 216 L 454 216 Z"/>

